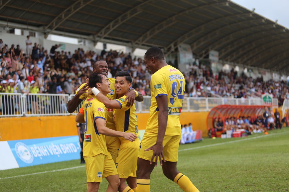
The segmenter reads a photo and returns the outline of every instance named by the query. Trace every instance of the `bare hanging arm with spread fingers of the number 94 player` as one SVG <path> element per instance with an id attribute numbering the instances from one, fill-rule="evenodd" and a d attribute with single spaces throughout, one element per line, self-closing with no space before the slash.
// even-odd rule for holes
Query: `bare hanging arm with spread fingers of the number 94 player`
<path id="1" fill-rule="evenodd" d="M 162 95 L 156 98 L 157 105 L 159 108 L 159 129 L 158 129 L 158 137 L 156 143 L 145 151 L 153 150 L 153 156 L 151 157 L 150 164 L 153 163 L 153 159 L 155 158 L 155 166 L 158 164 L 158 158 L 160 160 L 160 164 L 162 165 L 162 158 L 163 161 L 166 162 L 164 159 L 164 134 L 166 133 L 166 125 L 168 123 L 168 96 Z"/>

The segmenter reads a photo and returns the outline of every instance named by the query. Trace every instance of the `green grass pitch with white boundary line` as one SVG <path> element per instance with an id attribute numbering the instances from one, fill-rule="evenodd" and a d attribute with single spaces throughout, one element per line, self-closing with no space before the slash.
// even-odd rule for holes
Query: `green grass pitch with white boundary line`
<path id="1" fill-rule="evenodd" d="M 4 155 L 4 154 L 2 154 Z M 0 191 L 86 191 L 85 166 L 79 160 L 0 171 Z M 179 147 L 178 170 L 201 192 L 288 191 L 289 128 L 247 138 L 204 139 Z M 106 191 L 108 183 L 100 184 Z M 155 167 L 151 191 L 181 189 Z"/>

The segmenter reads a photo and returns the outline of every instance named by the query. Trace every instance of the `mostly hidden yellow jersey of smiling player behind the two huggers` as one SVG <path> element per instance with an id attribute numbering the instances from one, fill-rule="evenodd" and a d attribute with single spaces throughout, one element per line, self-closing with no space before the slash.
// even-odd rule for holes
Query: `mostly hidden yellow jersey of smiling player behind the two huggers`
<path id="1" fill-rule="evenodd" d="M 114 84 L 115 84 L 115 79 L 114 78 L 108 78 L 108 81 L 110 82 L 110 93 L 108 93 L 106 95 L 106 97 L 108 97 L 110 100 L 112 99 L 116 99 L 116 93 L 115 93 L 115 89 L 114 89 Z M 76 93 L 85 85 L 86 83 L 82 84 L 76 91 Z M 75 93 L 75 94 L 76 94 Z M 86 91 L 86 93 L 80 95 L 79 99 L 80 100 L 84 100 L 88 97 L 88 90 Z M 107 108 L 107 125 L 106 127 L 116 130 L 115 129 L 115 125 L 113 123 L 113 109 Z"/>

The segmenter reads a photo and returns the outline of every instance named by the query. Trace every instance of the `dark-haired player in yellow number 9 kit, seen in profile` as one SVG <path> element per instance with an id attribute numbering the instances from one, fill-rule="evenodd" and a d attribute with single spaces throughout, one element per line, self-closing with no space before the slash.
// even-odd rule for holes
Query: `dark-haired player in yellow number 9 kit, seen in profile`
<path id="1" fill-rule="evenodd" d="M 111 92 L 110 82 L 103 74 L 92 74 L 89 86 L 94 87 L 103 95 Z M 98 191 L 102 178 L 108 180 L 107 191 L 117 191 L 120 180 L 114 161 L 106 148 L 105 135 L 123 137 L 134 141 L 137 136 L 133 133 L 115 131 L 105 126 L 107 121 L 106 107 L 95 96 L 86 98 L 82 105 L 84 109 L 85 129 L 83 157 L 86 162 L 87 191 Z"/>

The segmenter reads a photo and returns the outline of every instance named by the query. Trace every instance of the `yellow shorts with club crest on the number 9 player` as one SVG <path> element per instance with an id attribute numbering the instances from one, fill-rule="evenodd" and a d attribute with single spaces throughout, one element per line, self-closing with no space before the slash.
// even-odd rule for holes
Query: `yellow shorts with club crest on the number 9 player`
<path id="1" fill-rule="evenodd" d="M 84 157 L 84 160 L 86 164 L 86 182 L 102 182 L 102 178 L 117 175 L 117 170 L 110 154 Z"/>

